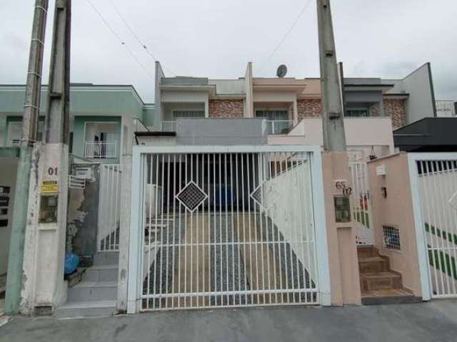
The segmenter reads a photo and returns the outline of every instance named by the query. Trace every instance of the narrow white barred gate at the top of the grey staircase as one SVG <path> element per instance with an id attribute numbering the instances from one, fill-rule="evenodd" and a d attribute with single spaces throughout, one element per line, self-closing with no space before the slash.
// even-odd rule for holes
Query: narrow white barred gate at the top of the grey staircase
<path id="1" fill-rule="evenodd" d="M 100 165 L 99 222 L 97 229 L 97 248 L 99 252 L 119 250 L 121 182 L 121 165 Z"/>

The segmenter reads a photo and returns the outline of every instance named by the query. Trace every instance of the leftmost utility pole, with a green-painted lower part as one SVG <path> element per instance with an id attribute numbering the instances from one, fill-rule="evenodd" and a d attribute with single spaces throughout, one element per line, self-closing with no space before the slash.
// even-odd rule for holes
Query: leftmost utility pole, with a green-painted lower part
<path id="1" fill-rule="evenodd" d="M 29 203 L 31 155 L 36 141 L 41 96 L 44 36 L 48 0 L 36 0 L 34 24 L 31 33 L 29 68 L 27 72 L 24 118 L 22 121 L 21 150 L 16 175 L 11 242 L 9 247 L 8 277 L 6 280 L 6 314 L 18 314 L 21 301 L 24 237 Z"/>

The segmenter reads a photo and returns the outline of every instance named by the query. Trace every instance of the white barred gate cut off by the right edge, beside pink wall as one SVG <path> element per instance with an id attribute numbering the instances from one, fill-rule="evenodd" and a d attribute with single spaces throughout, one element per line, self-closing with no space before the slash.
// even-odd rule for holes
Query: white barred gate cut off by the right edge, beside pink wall
<path id="1" fill-rule="evenodd" d="M 457 153 L 408 157 L 422 286 L 433 298 L 457 296 Z"/>

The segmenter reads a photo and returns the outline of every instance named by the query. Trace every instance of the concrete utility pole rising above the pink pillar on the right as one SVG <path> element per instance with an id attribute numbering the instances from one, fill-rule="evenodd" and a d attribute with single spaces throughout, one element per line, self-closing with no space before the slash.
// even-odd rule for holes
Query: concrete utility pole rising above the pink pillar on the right
<path id="1" fill-rule="evenodd" d="M 323 148 L 328 151 L 344 151 L 346 136 L 330 0 L 317 0 L 317 17 L 321 60 Z"/>

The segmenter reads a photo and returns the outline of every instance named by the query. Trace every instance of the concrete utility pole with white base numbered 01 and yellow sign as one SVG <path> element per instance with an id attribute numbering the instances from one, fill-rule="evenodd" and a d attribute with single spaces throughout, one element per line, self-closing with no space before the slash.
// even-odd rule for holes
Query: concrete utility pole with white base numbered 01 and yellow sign
<path id="1" fill-rule="evenodd" d="M 64 254 L 69 170 L 71 0 L 56 0 L 45 138 L 39 159 L 34 215 L 36 276 L 26 284 L 36 308 L 53 311 L 66 298 Z M 36 217 L 38 216 L 38 217 Z M 31 260 L 31 250 L 26 250 Z M 45 275 L 45 276 L 44 276 Z"/>

